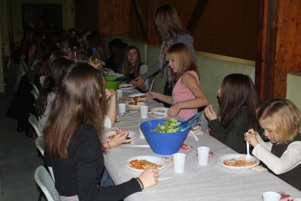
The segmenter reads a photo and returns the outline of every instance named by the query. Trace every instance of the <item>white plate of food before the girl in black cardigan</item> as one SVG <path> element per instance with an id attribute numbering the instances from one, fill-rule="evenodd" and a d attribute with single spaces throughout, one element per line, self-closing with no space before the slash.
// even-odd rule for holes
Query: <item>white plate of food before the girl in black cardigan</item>
<path id="1" fill-rule="evenodd" d="M 143 172 L 153 166 L 161 170 L 167 166 L 167 162 L 157 156 L 143 155 L 127 159 L 124 166 L 135 172 Z"/>

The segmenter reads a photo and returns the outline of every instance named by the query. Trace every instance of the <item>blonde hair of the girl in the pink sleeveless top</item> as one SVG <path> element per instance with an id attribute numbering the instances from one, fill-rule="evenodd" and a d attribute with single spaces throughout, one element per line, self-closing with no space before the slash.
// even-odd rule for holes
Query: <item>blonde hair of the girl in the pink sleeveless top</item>
<path id="1" fill-rule="evenodd" d="M 178 80 L 186 71 L 195 71 L 199 75 L 197 64 L 185 44 L 175 43 L 167 50 L 166 61 L 170 60 L 175 60 L 178 66 L 178 72 L 172 72 L 174 80 Z"/>

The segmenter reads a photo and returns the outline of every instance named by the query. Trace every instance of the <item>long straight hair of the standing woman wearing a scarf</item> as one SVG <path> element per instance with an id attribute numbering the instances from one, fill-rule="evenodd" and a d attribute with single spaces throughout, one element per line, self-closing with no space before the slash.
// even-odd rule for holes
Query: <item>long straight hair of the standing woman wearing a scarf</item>
<path id="1" fill-rule="evenodd" d="M 154 21 L 161 39 L 166 38 L 168 34 L 172 36 L 172 33 L 189 34 L 183 26 L 177 11 L 171 5 L 163 5 L 158 8 L 155 12 Z"/>

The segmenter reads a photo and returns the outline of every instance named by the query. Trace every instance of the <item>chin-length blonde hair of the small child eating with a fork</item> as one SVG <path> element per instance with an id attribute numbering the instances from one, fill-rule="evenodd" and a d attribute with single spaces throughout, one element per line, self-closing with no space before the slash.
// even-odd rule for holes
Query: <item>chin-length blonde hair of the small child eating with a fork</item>
<path id="1" fill-rule="evenodd" d="M 259 122 L 271 125 L 281 144 L 292 141 L 299 133 L 301 112 L 290 100 L 272 99 L 257 110 L 256 117 Z"/>

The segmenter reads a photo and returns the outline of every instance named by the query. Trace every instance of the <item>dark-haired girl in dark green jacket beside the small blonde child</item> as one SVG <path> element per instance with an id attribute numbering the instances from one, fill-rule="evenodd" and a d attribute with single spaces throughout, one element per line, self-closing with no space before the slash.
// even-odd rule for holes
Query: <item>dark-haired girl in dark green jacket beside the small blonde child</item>
<path id="1" fill-rule="evenodd" d="M 262 133 L 256 120 L 256 109 L 261 106 L 251 78 L 243 74 L 227 75 L 217 91 L 220 99 L 218 115 L 212 105 L 204 112 L 208 118 L 208 134 L 221 141 L 234 151 L 246 154 L 244 133 L 250 128 Z"/>

